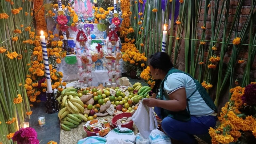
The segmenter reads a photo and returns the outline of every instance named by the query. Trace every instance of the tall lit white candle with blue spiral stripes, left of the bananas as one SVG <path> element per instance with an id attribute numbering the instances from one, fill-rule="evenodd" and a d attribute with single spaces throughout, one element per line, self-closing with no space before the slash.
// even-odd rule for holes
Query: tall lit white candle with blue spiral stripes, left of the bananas
<path id="1" fill-rule="evenodd" d="M 40 41 L 41 41 L 42 53 L 43 53 L 43 63 L 45 65 L 47 91 L 48 93 L 51 93 L 53 90 L 51 87 L 51 76 L 50 76 L 49 62 L 48 62 L 48 56 L 47 56 L 46 41 L 45 41 L 45 36 L 43 35 L 43 31 L 41 31 Z"/>

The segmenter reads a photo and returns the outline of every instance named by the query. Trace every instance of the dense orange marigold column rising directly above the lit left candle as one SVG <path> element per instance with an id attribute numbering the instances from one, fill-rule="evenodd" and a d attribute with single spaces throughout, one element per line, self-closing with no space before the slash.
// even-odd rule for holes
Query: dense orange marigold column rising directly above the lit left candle
<path id="1" fill-rule="evenodd" d="M 43 1 L 41 0 L 35 0 L 34 1 L 34 11 L 35 13 L 37 13 L 37 15 L 35 15 L 35 21 L 36 21 L 36 25 L 37 25 L 37 34 L 40 34 L 40 31 L 43 30 L 44 31 L 44 35 L 47 37 L 48 33 L 47 33 L 47 26 L 46 26 L 46 21 L 45 21 L 45 8 L 43 6 Z"/>

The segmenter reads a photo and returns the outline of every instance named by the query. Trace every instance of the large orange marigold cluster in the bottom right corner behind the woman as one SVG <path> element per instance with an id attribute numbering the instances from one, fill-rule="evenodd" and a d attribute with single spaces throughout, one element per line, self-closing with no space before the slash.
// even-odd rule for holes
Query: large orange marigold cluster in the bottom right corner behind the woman
<path id="1" fill-rule="evenodd" d="M 256 137 L 256 120 L 250 115 L 241 114 L 243 101 L 242 96 L 245 88 L 235 87 L 230 89 L 232 93 L 229 102 L 222 107 L 218 117 L 221 124 L 217 129 L 210 128 L 209 134 L 212 143 L 230 143 L 236 142 L 244 131 L 252 132 Z M 242 118 L 241 116 L 244 116 Z"/>

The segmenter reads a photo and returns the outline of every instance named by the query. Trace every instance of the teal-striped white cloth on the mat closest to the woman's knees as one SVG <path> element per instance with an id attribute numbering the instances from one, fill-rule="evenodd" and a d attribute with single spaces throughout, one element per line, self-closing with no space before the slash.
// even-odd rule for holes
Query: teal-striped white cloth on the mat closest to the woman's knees
<path id="1" fill-rule="evenodd" d="M 135 138 L 136 138 L 136 144 L 151 144 L 151 143 L 171 144 L 170 137 L 158 129 L 152 130 L 149 135 L 149 138 L 147 139 L 144 139 L 140 133 L 136 134 Z"/>

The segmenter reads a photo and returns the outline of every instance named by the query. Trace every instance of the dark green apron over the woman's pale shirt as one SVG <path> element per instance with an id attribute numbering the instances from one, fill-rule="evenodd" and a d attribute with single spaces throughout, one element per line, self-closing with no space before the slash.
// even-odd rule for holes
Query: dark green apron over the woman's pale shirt
<path id="1" fill-rule="evenodd" d="M 186 74 L 186 75 L 190 76 L 194 80 L 194 82 L 197 86 L 197 89 L 195 91 L 193 91 L 193 93 L 189 97 L 187 97 L 187 109 L 182 110 L 182 111 L 169 111 L 169 110 L 161 108 L 161 117 L 162 117 L 162 119 L 168 116 L 168 117 L 177 119 L 179 121 L 189 121 L 190 120 L 190 111 L 189 111 L 189 103 L 188 103 L 190 101 L 189 98 L 197 90 L 199 91 L 199 93 L 200 93 L 201 97 L 203 98 L 203 100 L 205 101 L 205 103 L 212 110 L 214 110 L 217 113 L 217 107 L 214 105 L 212 99 L 210 98 L 209 94 L 206 92 L 205 88 L 203 88 L 202 85 L 196 79 L 194 79 L 191 75 L 189 75 L 188 73 L 185 73 L 183 71 L 180 71 L 180 70 L 174 69 L 174 68 L 172 68 L 168 71 L 167 75 L 165 76 L 165 78 L 161 82 L 161 87 L 160 87 L 160 99 L 161 100 L 163 100 L 163 96 L 165 96 L 165 98 L 167 100 L 170 100 L 169 96 L 167 95 L 167 93 L 165 92 L 163 87 L 164 87 L 164 82 L 165 82 L 166 78 L 168 77 L 169 74 L 172 74 L 172 73 L 183 73 L 183 74 Z"/>

